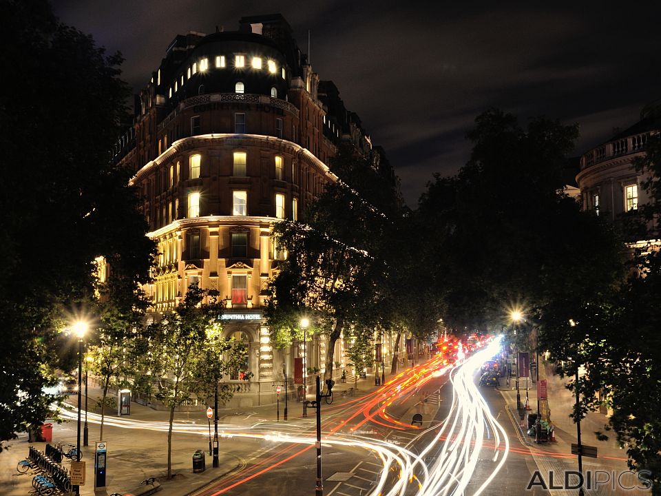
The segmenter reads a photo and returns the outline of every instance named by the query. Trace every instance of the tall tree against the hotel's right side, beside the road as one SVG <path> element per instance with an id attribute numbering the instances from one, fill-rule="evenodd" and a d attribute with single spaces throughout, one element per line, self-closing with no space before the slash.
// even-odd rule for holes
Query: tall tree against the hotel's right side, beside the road
<path id="1" fill-rule="evenodd" d="M 388 267 L 379 251 L 388 244 L 389 215 L 398 209 L 388 176 L 351 147 L 331 161 L 340 178 L 306 212 L 305 223 L 282 221 L 273 231 L 286 249 L 266 311 L 275 342 L 300 338 L 297 322 L 313 316 L 328 334 L 325 378 L 331 378 L 335 342 L 343 329 L 379 324 L 381 287 Z"/>

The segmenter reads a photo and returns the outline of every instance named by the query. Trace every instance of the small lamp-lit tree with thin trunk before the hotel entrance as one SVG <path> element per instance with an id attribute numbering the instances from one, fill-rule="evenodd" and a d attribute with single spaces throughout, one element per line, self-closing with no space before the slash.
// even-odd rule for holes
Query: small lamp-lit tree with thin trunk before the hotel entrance
<path id="1" fill-rule="evenodd" d="M 206 300 L 206 301 L 205 301 Z M 206 395 L 223 373 L 238 371 L 244 345 L 222 338 L 222 302 L 209 290 L 191 285 L 182 302 L 162 320 L 147 328 L 150 343 L 145 360 L 154 377 L 169 376 L 159 384 L 156 397 L 169 408 L 167 431 L 167 478 L 172 477 L 172 425 L 174 412 L 193 395 Z M 223 390 L 225 397 L 231 391 Z"/>

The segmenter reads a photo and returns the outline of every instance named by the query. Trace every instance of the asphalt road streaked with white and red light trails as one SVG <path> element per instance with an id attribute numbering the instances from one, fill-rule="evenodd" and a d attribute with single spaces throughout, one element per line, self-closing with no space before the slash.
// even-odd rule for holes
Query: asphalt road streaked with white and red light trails
<path id="1" fill-rule="evenodd" d="M 576 459 L 523 439 L 507 395 L 476 386 L 479 368 L 498 351 L 492 342 L 457 362 L 443 358 L 407 369 L 364 395 L 322 401 L 324 495 L 546 495 L 527 490 L 536 471 L 565 471 Z M 505 397 L 503 396 L 505 395 Z M 339 396 L 339 395 L 336 395 Z M 300 407 L 300 404 L 297 404 Z M 290 412 L 293 408 L 290 409 Z M 412 425 L 413 415 L 422 422 Z M 288 422 L 244 413 L 220 425 L 221 458 L 233 466 L 222 477 L 186 493 L 194 496 L 310 495 L 315 490 L 315 412 Z M 90 422 L 97 422 L 90 415 Z M 165 422 L 107 417 L 109 429 L 138 429 L 154 435 Z M 204 424 L 175 425 L 176 435 L 207 439 Z M 144 434 L 140 434 L 140 439 Z M 211 461 L 207 460 L 208 465 Z M 620 464 L 611 457 L 605 465 Z M 223 466 L 224 466 L 223 465 Z M 546 477 L 545 477 L 546 478 Z M 600 488 L 587 494 L 614 494 Z M 554 495 L 578 491 L 554 490 Z"/>

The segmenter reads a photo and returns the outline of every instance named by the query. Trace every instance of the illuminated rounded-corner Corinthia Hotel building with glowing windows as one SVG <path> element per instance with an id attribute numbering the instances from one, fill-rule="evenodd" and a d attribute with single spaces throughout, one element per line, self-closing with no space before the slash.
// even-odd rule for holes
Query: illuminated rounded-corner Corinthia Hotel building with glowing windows
<path id="1" fill-rule="evenodd" d="M 275 351 L 262 318 L 266 282 L 284 257 L 273 223 L 300 218 L 336 179 L 328 161 L 339 141 L 375 161 L 380 154 L 335 85 L 319 81 L 280 14 L 243 18 L 238 31 L 178 35 L 136 106 L 115 152 L 135 171 L 158 242 L 145 288 L 153 310 L 173 309 L 191 284 L 217 290 L 225 335 L 250 350 L 245 371 L 253 377 L 223 378 L 236 382 L 233 402 L 271 402 L 282 365 L 292 378 L 302 353 Z M 337 346 L 335 360 L 344 362 Z M 324 338 L 308 343 L 308 355 L 308 366 L 323 369 Z"/>

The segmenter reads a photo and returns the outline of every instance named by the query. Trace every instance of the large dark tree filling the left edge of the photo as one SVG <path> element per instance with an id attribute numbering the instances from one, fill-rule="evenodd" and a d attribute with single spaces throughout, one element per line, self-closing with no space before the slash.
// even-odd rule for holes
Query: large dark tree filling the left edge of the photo
<path id="1" fill-rule="evenodd" d="M 128 91 L 119 54 L 59 23 L 45 0 L 0 1 L 7 78 L 0 94 L 0 448 L 41 424 L 53 398 L 56 335 L 72 308 L 94 313 L 94 260 L 146 280 L 153 245 L 130 172 L 109 159 Z M 20 397 L 20 400 L 19 400 Z"/>

